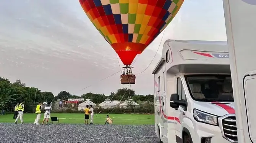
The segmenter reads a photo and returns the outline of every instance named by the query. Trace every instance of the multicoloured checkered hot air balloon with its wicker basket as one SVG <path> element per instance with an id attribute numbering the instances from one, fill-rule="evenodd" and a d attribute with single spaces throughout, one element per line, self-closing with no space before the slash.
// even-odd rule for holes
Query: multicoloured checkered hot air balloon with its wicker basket
<path id="1" fill-rule="evenodd" d="M 131 63 L 165 29 L 184 0 L 79 0 L 125 65 L 122 84 L 135 84 Z"/>

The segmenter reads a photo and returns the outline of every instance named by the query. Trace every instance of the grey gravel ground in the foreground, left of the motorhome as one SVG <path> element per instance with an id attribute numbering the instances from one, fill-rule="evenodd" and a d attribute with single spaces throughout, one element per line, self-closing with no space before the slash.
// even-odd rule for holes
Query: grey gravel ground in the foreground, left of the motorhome
<path id="1" fill-rule="evenodd" d="M 0 124 L 0 143 L 159 143 L 153 125 Z"/>

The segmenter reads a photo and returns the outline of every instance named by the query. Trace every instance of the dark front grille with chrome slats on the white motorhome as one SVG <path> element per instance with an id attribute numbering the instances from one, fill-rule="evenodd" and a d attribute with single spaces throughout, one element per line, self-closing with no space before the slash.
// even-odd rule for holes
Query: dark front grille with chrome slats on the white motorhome
<path id="1" fill-rule="evenodd" d="M 225 137 L 237 141 L 237 122 L 235 116 L 223 119 L 222 127 Z"/>

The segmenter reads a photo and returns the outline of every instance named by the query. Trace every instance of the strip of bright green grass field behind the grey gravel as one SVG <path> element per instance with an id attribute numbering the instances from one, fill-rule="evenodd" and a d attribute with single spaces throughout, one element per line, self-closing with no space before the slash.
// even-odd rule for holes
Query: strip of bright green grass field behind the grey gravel
<path id="1" fill-rule="evenodd" d="M 107 114 L 94 114 L 94 124 L 104 124 Z M 51 113 L 51 116 L 57 116 L 60 124 L 84 124 L 83 113 Z M 153 125 L 154 115 L 149 114 L 109 114 L 113 119 L 113 124 L 117 125 Z M 44 114 L 41 114 L 40 124 L 42 123 Z M 36 114 L 24 113 L 23 122 L 34 123 Z M 0 123 L 14 123 L 13 114 L 5 114 L 0 116 Z M 90 122 L 90 120 L 89 120 Z M 20 120 L 18 120 L 20 123 Z M 50 123 L 50 119 L 49 122 Z"/>

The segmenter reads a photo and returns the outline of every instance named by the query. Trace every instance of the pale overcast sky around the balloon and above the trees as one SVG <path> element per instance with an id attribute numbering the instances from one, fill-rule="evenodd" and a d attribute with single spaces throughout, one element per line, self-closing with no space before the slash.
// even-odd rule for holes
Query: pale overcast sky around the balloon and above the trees
<path id="1" fill-rule="evenodd" d="M 0 19 L 0 76 L 11 82 L 21 79 L 55 95 L 63 90 L 109 95 L 127 87 L 120 84 L 121 73 L 97 82 L 120 68 L 115 51 L 78 0 L 2 0 Z M 136 57 L 133 73 L 149 65 L 162 34 Z M 226 41 L 222 0 L 185 0 L 166 28 L 162 44 L 167 39 Z M 131 85 L 136 94 L 154 94 L 151 71 L 161 51 L 160 47 L 149 68 L 136 76 L 136 84 Z"/>

